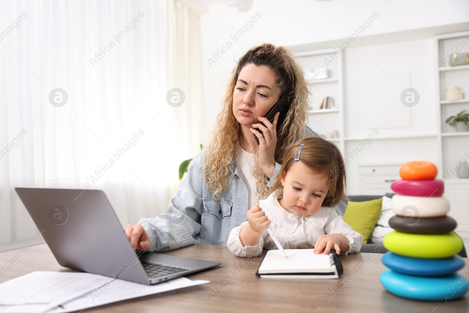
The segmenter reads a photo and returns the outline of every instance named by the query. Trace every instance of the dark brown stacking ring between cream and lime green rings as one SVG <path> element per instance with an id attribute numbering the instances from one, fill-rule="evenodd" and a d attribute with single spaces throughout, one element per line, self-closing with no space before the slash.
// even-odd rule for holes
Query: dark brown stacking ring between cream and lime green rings
<path id="1" fill-rule="evenodd" d="M 445 234 L 457 226 L 453 218 L 442 217 L 405 217 L 394 215 L 389 219 L 389 226 L 403 233 L 412 234 Z"/>

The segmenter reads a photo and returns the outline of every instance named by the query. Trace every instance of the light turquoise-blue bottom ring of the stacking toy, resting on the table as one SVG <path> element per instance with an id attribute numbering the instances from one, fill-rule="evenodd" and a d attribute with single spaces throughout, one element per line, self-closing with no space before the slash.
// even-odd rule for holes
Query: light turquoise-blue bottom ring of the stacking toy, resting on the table
<path id="1" fill-rule="evenodd" d="M 459 273 L 439 277 L 403 275 L 386 269 L 379 280 L 387 291 L 402 297 L 416 300 L 448 301 L 464 296 L 469 290 L 469 282 Z"/>

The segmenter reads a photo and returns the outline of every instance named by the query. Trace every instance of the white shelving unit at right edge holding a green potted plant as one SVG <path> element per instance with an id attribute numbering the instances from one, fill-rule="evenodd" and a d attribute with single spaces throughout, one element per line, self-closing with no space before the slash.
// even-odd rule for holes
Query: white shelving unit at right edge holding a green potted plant
<path id="1" fill-rule="evenodd" d="M 465 99 L 461 100 L 444 99 L 448 85 L 458 85 L 462 89 L 464 85 L 469 84 L 469 65 L 450 66 L 442 61 L 447 59 L 446 53 L 459 46 L 461 41 L 467 42 L 465 36 L 469 36 L 469 31 L 435 36 L 435 68 L 438 69 L 435 90 L 438 99 L 436 103 L 439 104 L 435 111 L 436 121 L 439 122 L 436 128 L 438 178 L 446 177 L 443 178 L 445 197 L 451 205 L 448 215 L 458 222 L 455 231 L 461 237 L 469 238 L 469 178 L 458 178 L 454 170 L 462 159 L 469 162 L 469 131 L 455 132 L 453 127 L 445 123 L 450 115 L 456 115 L 464 109 L 469 111 L 469 94 L 465 94 Z M 466 50 L 463 52 L 467 53 Z"/>

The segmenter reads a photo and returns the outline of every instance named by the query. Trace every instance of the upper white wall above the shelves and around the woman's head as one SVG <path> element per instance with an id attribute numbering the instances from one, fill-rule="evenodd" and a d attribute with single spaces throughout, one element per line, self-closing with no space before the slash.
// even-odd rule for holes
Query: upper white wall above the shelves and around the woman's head
<path id="1" fill-rule="evenodd" d="M 391 0 L 387 4 L 386 2 L 387 0 L 317 2 L 255 0 L 252 8 L 247 12 L 238 12 L 236 9 L 228 8 L 226 4 L 207 7 L 210 14 L 201 17 L 204 66 L 202 76 L 205 112 L 207 112 L 204 125 L 211 129 L 216 114 L 219 112 L 219 103 L 225 91 L 226 79 L 235 65 L 234 60 L 237 60 L 251 46 L 264 42 L 282 46 L 298 46 L 346 38 L 356 31 L 373 12 L 377 12 L 379 17 L 371 24 L 371 28 L 363 33 L 363 36 L 441 25 L 451 25 L 454 30 L 457 30 L 457 27 L 452 25 L 453 23 L 457 25 L 469 22 L 467 13 L 469 2 L 464 0 L 433 1 L 438 8 L 427 0 Z M 448 2 L 452 4 L 448 5 Z M 241 39 L 234 42 L 230 36 L 241 30 L 256 12 L 262 16 L 254 23 L 252 29 L 246 31 Z M 219 48 L 226 45 L 227 41 L 231 41 L 233 46 L 223 55 L 219 54 L 221 58 L 210 66 L 207 58 L 212 58 L 212 53 L 216 53 Z M 208 136 L 208 131 L 206 134 Z"/>

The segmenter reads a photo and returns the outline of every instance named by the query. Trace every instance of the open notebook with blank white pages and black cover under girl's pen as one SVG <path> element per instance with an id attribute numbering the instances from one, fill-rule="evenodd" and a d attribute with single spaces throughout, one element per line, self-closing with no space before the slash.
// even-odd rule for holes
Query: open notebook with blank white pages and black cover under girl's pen
<path id="1" fill-rule="evenodd" d="M 269 250 L 257 269 L 262 278 L 339 278 L 342 263 L 332 250 L 329 254 L 314 254 L 314 249 L 285 249 L 288 259 L 280 250 Z"/>

